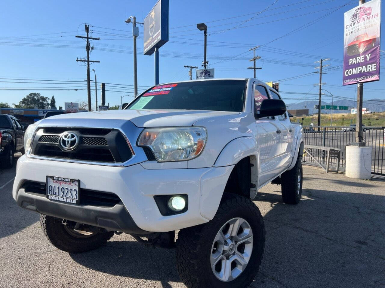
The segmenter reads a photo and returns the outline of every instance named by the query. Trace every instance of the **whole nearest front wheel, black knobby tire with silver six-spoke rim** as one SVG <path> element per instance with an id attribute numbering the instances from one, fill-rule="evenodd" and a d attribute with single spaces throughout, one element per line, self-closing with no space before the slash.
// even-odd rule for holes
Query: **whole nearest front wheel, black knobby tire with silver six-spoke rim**
<path id="1" fill-rule="evenodd" d="M 182 229 L 176 242 L 179 276 L 189 288 L 243 288 L 261 264 L 265 230 L 248 198 L 224 194 L 208 223 Z"/>

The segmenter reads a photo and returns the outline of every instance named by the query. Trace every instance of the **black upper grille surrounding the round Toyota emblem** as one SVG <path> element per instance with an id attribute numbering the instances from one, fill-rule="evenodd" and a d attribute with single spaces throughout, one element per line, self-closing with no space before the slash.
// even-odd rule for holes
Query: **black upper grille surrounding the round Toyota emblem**
<path id="1" fill-rule="evenodd" d="M 60 146 L 60 135 L 71 131 L 79 136 L 79 145 L 71 151 Z M 87 162 L 123 163 L 132 152 L 122 133 L 115 129 L 44 127 L 37 131 L 32 155 Z"/>

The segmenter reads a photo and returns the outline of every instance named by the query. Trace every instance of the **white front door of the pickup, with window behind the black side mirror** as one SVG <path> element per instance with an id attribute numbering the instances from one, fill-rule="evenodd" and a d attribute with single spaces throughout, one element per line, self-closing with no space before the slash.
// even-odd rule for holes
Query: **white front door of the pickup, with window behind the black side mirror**
<path id="1" fill-rule="evenodd" d="M 269 99 L 269 93 L 262 84 L 254 84 L 254 114 L 258 114 L 263 99 Z M 274 117 L 256 119 L 256 142 L 259 147 L 261 175 L 259 183 L 263 185 L 273 179 L 280 166 L 281 134 Z"/>

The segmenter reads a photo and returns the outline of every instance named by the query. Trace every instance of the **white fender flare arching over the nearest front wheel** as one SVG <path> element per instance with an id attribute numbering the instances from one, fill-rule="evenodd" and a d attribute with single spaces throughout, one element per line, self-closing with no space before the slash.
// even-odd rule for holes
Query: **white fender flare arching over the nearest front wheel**
<path id="1" fill-rule="evenodd" d="M 251 165 L 251 184 L 250 198 L 253 199 L 258 192 L 259 185 L 259 149 L 254 137 L 243 136 L 228 142 L 217 157 L 214 167 L 224 167 L 237 164 L 245 157 L 250 157 Z"/>

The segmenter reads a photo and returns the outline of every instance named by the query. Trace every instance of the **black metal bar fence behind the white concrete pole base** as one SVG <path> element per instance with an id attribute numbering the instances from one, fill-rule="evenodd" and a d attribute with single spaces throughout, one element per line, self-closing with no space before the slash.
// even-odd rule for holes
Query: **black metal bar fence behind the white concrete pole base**
<path id="1" fill-rule="evenodd" d="M 362 136 L 366 146 L 372 147 L 372 174 L 385 176 L 384 161 L 384 128 L 365 126 Z M 341 149 L 340 169 L 345 170 L 346 145 L 355 142 L 355 126 L 303 126 L 305 145 L 317 145 Z M 323 164 L 326 164 L 325 152 L 313 151 L 313 156 Z M 316 164 L 306 153 L 303 161 L 307 164 Z M 332 159 L 331 166 L 336 166 L 336 159 Z"/>

